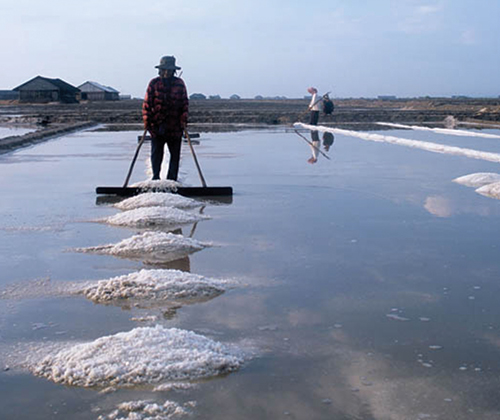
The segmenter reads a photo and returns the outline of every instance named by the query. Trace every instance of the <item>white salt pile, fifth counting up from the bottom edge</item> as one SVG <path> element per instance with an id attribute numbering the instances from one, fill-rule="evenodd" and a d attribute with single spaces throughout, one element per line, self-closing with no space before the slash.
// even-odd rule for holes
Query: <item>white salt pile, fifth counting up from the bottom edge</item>
<path id="1" fill-rule="evenodd" d="M 144 207 L 127 210 L 114 216 L 100 219 L 100 221 L 115 226 L 180 226 L 209 219 L 202 214 L 188 213 L 173 207 Z"/>

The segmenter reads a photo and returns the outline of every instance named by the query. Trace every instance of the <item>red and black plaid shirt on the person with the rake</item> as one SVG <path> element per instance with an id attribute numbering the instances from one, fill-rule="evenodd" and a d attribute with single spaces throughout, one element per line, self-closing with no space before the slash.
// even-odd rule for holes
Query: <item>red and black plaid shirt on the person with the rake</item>
<path id="1" fill-rule="evenodd" d="M 142 104 L 144 127 L 152 136 L 181 136 L 187 124 L 189 99 L 179 77 L 156 77 L 149 82 Z"/>

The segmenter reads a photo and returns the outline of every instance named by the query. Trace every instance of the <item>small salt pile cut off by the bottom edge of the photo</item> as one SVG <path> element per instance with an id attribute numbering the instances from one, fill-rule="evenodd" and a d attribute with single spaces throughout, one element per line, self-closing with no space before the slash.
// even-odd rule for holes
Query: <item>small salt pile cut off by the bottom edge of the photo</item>
<path id="1" fill-rule="evenodd" d="M 153 401 L 129 401 L 118 405 L 117 409 L 107 416 L 99 416 L 97 420 L 170 420 L 177 419 L 189 414 L 189 408 L 193 403 L 187 403 L 183 407 L 175 401 L 165 401 L 157 404 Z"/>

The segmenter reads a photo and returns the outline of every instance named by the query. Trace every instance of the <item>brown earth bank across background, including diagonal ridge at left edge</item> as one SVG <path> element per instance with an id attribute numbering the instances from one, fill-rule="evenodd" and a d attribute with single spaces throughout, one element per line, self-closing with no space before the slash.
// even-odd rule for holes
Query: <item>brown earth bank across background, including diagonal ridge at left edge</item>
<path id="1" fill-rule="evenodd" d="M 458 124 L 500 128 L 499 99 L 334 99 L 332 115 L 319 123 L 354 130 L 381 130 L 377 122 L 443 125 L 452 116 Z M 307 122 L 307 99 L 191 100 L 189 130 L 233 131 Z M 35 133 L 0 139 L 0 151 L 43 141 L 95 125 L 95 130 L 142 130 L 142 100 L 81 102 L 79 104 L 22 104 L 0 102 L 0 125 L 28 125 Z"/>

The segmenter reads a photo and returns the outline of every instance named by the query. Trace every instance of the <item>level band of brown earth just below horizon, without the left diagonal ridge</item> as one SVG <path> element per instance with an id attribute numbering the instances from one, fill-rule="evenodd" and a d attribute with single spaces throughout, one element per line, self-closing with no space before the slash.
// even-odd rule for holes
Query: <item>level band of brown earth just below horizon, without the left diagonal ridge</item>
<path id="1" fill-rule="evenodd" d="M 256 100 L 207 99 L 190 101 L 190 125 L 258 124 L 286 125 L 307 121 L 306 99 Z M 500 122 L 499 99 L 334 99 L 333 115 L 321 115 L 320 123 L 359 124 L 378 121 L 439 123 L 447 116 L 458 121 Z M 0 123 L 141 124 L 140 99 L 79 104 L 0 103 Z"/>

